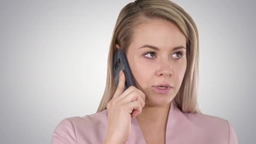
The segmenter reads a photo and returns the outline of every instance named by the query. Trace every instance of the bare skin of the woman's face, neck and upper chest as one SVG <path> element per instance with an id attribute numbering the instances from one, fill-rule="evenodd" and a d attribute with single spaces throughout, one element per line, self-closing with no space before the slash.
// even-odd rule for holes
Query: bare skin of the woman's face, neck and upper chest
<path id="1" fill-rule="evenodd" d="M 152 45 L 158 50 L 140 48 L 143 45 Z M 174 50 L 179 46 L 184 48 Z M 164 144 L 170 104 L 179 91 L 187 67 L 186 37 L 170 21 L 149 19 L 135 27 L 126 56 L 136 88 L 146 96 L 145 106 L 136 116 L 144 138 L 147 144 Z M 164 94 L 155 92 L 152 86 L 161 83 L 173 86 L 172 90 Z"/>

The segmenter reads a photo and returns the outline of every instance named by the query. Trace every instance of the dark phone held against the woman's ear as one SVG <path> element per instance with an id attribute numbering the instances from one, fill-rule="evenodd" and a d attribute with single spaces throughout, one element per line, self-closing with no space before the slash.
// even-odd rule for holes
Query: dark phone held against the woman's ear
<path id="1" fill-rule="evenodd" d="M 113 61 L 113 75 L 115 78 L 116 86 L 119 83 L 119 73 L 121 70 L 123 70 L 123 72 L 125 73 L 125 90 L 129 88 L 131 85 L 135 86 L 133 75 L 129 67 L 125 53 L 122 50 L 118 49 L 115 53 Z"/>

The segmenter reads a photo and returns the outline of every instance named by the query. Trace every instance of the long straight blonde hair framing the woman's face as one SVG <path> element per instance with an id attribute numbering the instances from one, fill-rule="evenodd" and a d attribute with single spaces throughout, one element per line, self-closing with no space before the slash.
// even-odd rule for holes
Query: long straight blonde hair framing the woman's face
<path id="1" fill-rule="evenodd" d="M 197 104 L 199 40 L 193 19 L 179 5 L 169 0 L 136 0 L 127 4 L 119 13 L 109 47 L 107 61 L 107 82 L 97 112 L 107 109 L 117 87 L 113 77 L 113 56 L 115 45 L 127 51 L 134 28 L 147 19 L 165 19 L 176 24 L 187 38 L 187 69 L 181 87 L 175 96 L 176 106 L 182 112 L 201 113 Z"/>

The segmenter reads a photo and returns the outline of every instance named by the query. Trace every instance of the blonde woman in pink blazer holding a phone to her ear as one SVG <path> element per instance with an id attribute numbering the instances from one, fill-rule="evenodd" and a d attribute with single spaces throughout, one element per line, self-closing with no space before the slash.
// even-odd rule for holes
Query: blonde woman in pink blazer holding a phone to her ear
<path id="1" fill-rule="evenodd" d="M 120 12 L 97 113 L 59 123 L 52 144 L 237 144 L 232 125 L 197 104 L 198 32 L 168 0 L 136 0 Z M 113 56 L 125 52 L 135 86 L 116 86 Z"/>

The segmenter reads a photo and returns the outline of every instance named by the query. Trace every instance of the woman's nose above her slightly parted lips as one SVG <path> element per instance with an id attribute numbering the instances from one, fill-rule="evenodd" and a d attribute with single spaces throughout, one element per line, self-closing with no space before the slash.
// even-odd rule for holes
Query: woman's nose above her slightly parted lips
<path id="1" fill-rule="evenodd" d="M 173 75 L 172 64 L 168 59 L 159 61 L 159 68 L 156 71 L 156 75 L 160 77 L 170 77 Z"/>

